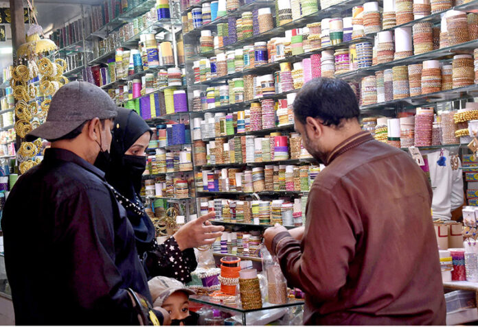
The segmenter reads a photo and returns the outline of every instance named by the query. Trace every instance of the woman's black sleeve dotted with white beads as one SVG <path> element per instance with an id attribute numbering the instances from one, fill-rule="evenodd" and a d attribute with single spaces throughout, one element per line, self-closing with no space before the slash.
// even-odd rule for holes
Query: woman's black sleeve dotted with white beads
<path id="1" fill-rule="evenodd" d="M 198 263 L 194 249 L 181 251 L 174 237 L 170 237 L 162 244 L 155 242 L 152 250 L 146 252 L 144 265 L 150 278 L 166 276 L 187 283 L 191 281 L 191 273 Z"/>

